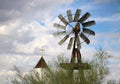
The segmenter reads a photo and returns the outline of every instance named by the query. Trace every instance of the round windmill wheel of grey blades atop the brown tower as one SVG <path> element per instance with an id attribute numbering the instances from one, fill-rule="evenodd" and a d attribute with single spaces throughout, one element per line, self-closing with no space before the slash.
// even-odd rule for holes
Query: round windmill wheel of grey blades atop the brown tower
<path id="1" fill-rule="evenodd" d="M 76 41 L 77 49 L 81 48 L 81 39 L 86 43 L 89 44 L 90 40 L 88 35 L 95 35 L 95 32 L 88 27 L 95 25 L 95 21 L 87 21 L 87 19 L 91 16 L 89 12 L 81 15 L 81 9 L 77 9 L 75 14 L 72 14 L 71 10 L 66 11 L 67 16 L 63 16 L 60 14 L 58 16 L 59 20 L 63 23 L 54 23 L 53 26 L 59 28 L 62 31 L 56 32 L 53 35 L 61 36 L 65 35 L 59 42 L 59 45 L 62 45 L 66 40 L 70 37 L 67 49 L 70 50 L 73 41 Z M 74 25 L 72 24 L 74 23 Z M 73 34 L 73 36 L 71 36 Z"/>

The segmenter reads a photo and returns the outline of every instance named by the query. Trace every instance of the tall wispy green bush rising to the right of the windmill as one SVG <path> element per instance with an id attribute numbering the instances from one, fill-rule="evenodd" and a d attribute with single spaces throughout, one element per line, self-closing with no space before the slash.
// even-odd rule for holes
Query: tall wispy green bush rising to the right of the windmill
<path id="1" fill-rule="evenodd" d="M 109 74 L 107 67 L 108 58 L 111 57 L 107 52 L 99 49 L 90 62 L 91 70 L 86 72 L 86 80 L 89 84 L 102 84 L 104 78 Z"/>

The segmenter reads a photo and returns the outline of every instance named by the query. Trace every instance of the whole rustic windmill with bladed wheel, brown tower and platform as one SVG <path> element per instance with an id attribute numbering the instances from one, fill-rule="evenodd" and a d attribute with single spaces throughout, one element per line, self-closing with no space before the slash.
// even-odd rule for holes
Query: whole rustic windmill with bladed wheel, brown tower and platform
<path id="1" fill-rule="evenodd" d="M 66 13 L 66 16 L 63 16 L 62 14 L 58 15 L 60 22 L 53 24 L 53 26 L 59 30 L 53 34 L 55 37 L 65 35 L 58 44 L 62 45 L 70 38 L 67 49 L 70 50 L 73 47 L 70 63 L 61 63 L 61 67 L 72 71 L 80 68 L 88 69 L 90 66 L 87 63 L 82 63 L 81 61 L 80 49 L 81 43 L 90 43 L 88 38 L 89 35 L 95 35 L 95 32 L 88 28 L 95 25 L 95 21 L 87 21 L 90 17 L 89 12 L 81 16 L 81 9 L 77 9 L 75 14 L 72 14 L 71 10 L 67 10 Z M 76 57 L 77 62 L 75 61 Z"/>

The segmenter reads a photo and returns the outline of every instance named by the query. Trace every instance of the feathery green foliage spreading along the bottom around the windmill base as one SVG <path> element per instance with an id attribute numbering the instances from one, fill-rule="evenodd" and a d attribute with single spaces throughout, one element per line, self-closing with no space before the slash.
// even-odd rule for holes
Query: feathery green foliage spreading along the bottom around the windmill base
<path id="1" fill-rule="evenodd" d="M 102 84 L 105 77 L 109 75 L 107 67 L 108 59 L 111 56 L 104 50 L 100 49 L 94 55 L 94 59 L 88 62 L 91 65 L 90 70 L 84 70 L 84 77 L 81 77 L 82 70 L 74 71 L 71 74 L 70 70 L 64 70 L 59 65 L 61 62 L 68 62 L 63 55 L 58 56 L 54 61 L 56 68 L 44 69 L 41 75 L 38 71 L 30 72 L 28 75 L 23 75 L 17 68 L 16 78 L 12 80 L 13 84 Z M 82 79 L 82 80 L 81 80 Z M 114 80 L 108 80 L 106 84 L 116 84 Z M 120 83 L 118 83 L 120 84 Z"/>

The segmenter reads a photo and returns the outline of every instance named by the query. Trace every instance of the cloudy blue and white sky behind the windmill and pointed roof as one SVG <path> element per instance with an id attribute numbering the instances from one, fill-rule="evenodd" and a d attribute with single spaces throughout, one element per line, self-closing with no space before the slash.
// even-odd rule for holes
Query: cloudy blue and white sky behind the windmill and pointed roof
<path id="1" fill-rule="evenodd" d="M 53 33 L 58 15 L 71 9 L 81 9 L 81 15 L 91 14 L 91 26 L 96 35 L 89 45 L 82 44 L 81 54 L 90 59 L 99 47 L 112 55 L 109 59 L 109 79 L 120 78 L 120 1 L 119 0 L 0 0 L 0 84 L 15 74 L 14 66 L 31 71 L 43 52 L 46 62 L 64 53 L 70 59 L 67 42 L 58 45 Z M 114 77 L 114 78 L 113 78 Z"/>

